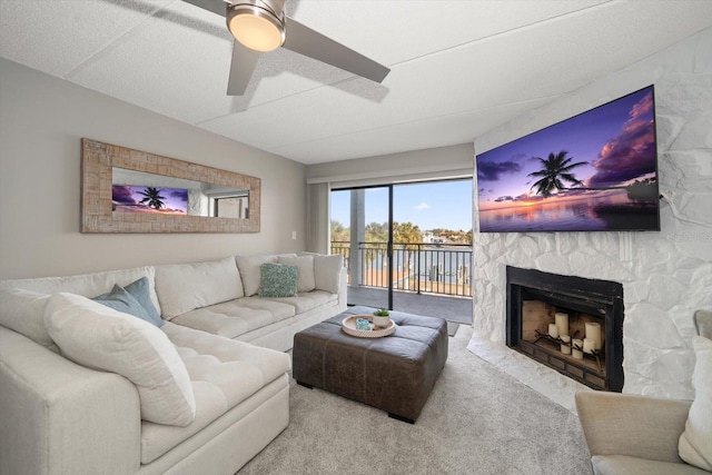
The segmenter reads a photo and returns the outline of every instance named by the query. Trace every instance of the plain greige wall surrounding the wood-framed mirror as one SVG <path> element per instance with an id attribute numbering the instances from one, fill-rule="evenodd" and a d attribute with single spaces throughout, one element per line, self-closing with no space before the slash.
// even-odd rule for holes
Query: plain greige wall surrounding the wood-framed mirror
<path id="1" fill-rule="evenodd" d="M 260 178 L 261 231 L 80 234 L 82 137 Z M 0 59 L 0 278 L 301 250 L 305 170 L 301 164 Z"/>

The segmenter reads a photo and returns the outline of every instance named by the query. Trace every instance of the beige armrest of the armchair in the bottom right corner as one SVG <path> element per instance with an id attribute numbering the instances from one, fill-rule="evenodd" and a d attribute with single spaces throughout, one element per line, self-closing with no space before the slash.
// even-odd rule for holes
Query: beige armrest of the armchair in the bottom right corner
<path id="1" fill-rule="evenodd" d="M 592 456 L 682 463 L 678 439 L 691 404 L 620 393 L 576 393 L 576 409 Z"/>

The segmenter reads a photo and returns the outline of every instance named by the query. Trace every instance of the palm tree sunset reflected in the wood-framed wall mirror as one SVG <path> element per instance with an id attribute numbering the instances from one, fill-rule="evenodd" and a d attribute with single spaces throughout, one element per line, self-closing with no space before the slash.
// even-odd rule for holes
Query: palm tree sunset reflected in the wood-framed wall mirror
<path id="1" fill-rule="evenodd" d="M 184 216 L 188 214 L 188 190 L 185 188 L 113 185 L 111 194 L 113 211 Z"/>

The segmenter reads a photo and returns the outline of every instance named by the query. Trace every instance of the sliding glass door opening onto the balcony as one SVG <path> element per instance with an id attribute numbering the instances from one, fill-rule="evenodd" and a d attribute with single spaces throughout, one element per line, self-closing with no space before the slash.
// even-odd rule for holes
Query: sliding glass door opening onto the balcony
<path id="1" fill-rule="evenodd" d="M 472 179 L 333 190 L 348 304 L 472 321 Z"/>

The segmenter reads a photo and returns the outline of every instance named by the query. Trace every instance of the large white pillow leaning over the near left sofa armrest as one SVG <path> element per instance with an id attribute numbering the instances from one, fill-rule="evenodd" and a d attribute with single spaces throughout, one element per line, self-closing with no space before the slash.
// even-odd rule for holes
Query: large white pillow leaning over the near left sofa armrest
<path id="1" fill-rule="evenodd" d="M 68 359 L 119 374 L 138 389 L 141 418 L 187 426 L 196 399 L 186 365 L 158 327 L 73 294 L 55 294 L 44 325 Z"/>

